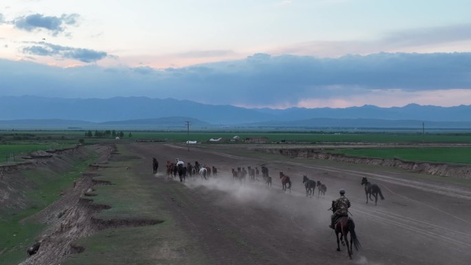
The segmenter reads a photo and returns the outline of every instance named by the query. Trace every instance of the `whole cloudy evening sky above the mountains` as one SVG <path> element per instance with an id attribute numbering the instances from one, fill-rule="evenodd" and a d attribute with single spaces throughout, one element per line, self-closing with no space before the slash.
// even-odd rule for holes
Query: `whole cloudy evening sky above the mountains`
<path id="1" fill-rule="evenodd" d="M 471 105 L 468 0 L 0 2 L 0 96 Z"/>

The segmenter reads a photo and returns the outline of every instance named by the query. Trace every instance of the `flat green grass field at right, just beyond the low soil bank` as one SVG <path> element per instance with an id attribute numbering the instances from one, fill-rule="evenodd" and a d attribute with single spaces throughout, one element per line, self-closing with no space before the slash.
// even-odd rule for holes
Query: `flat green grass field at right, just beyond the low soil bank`
<path id="1" fill-rule="evenodd" d="M 470 147 L 336 149 L 328 152 L 342 153 L 346 156 L 364 158 L 397 158 L 400 160 L 417 162 L 471 164 Z"/>

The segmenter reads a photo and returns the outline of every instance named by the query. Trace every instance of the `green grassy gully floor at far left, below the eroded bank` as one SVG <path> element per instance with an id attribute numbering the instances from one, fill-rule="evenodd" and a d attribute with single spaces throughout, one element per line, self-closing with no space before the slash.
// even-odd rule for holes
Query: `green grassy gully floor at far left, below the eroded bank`
<path id="1" fill-rule="evenodd" d="M 65 173 L 58 173 L 46 168 L 23 171 L 34 182 L 34 190 L 25 191 L 31 201 L 27 209 L 0 211 L 0 265 L 18 264 L 27 257 L 26 248 L 45 229 L 43 224 L 20 222 L 34 215 L 52 202 L 59 199 L 63 189 L 71 187 L 72 182 L 82 176 L 90 163 L 96 160 L 96 153 L 90 153 L 85 159 L 77 160 Z"/>

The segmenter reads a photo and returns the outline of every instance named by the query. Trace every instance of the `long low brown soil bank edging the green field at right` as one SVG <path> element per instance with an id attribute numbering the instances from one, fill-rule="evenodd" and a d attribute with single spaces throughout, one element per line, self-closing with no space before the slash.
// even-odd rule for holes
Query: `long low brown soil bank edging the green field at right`
<path id="1" fill-rule="evenodd" d="M 381 165 L 386 167 L 397 167 L 408 171 L 427 173 L 430 175 L 459 177 L 471 179 L 470 165 L 448 165 L 430 162 L 409 162 L 399 159 L 382 159 L 382 158 L 355 158 L 344 156 L 337 153 L 325 153 L 316 149 L 256 149 L 265 153 L 279 153 L 289 158 L 312 158 L 325 159 L 337 162 L 348 162 L 354 164 Z"/>

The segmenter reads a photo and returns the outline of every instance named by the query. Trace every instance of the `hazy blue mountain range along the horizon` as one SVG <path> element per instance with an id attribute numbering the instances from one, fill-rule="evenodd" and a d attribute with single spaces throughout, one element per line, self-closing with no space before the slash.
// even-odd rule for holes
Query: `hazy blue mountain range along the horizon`
<path id="1" fill-rule="evenodd" d="M 0 96 L 0 129 L 10 127 L 378 127 L 471 128 L 471 105 L 456 107 L 244 108 L 174 98 Z"/>

